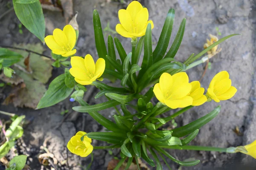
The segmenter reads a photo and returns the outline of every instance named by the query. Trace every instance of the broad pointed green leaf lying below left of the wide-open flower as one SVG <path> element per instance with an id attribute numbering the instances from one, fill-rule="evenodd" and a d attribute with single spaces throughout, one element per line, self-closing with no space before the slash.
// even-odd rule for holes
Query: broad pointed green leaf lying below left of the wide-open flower
<path id="1" fill-rule="evenodd" d="M 37 109 L 50 107 L 54 104 L 57 104 L 58 102 L 66 99 L 71 94 L 73 88 L 66 86 L 65 77 L 65 74 L 59 75 L 50 83 L 48 90 L 39 101 Z"/>

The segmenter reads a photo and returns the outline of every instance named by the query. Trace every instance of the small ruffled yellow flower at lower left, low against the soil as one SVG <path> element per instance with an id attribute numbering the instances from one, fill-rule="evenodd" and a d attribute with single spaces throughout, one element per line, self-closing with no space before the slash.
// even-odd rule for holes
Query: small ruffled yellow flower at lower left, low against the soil
<path id="1" fill-rule="evenodd" d="M 91 145 L 92 139 L 84 136 L 84 140 L 81 141 L 81 137 L 86 133 L 79 131 L 74 135 L 70 141 L 67 143 L 67 149 L 78 156 L 86 157 L 90 155 L 93 151 L 93 146 Z"/>

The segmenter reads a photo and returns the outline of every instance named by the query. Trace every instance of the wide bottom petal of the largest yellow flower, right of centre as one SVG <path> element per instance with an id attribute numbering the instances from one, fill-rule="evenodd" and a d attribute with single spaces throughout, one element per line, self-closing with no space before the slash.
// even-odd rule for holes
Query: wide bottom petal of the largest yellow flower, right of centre
<path id="1" fill-rule="evenodd" d="M 172 109 L 190 106 L 192 102 L 193 102 L 193 99 L 190 96 L 185 96 L 183 98 L 174 99 L 174 100 L 165 100 L 165 104 Z"/>

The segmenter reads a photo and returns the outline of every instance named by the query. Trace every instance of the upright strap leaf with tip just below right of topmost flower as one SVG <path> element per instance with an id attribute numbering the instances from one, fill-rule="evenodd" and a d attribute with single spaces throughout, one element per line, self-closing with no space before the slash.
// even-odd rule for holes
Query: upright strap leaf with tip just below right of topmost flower
<path id="1" fill-rule="evenodd" d="M 138 78 L 141 78 L 146 70 L 153 64 L 153 52 L 152 52 L 152 34 L 151 34 L 151 24 L 149 23 L 145 33 L 144 40 L 144 56 L 141 64 L 141 70 L 139 72 Z"/>

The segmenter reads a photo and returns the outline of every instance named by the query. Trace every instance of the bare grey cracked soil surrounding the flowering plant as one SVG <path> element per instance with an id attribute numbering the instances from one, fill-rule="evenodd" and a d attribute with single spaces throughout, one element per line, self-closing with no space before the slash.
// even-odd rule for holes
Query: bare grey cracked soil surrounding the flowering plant
<path id="1" fill-rule="evenodd" d="M 0 0 L 0 14 L 8 10 L 7 5 L 12 4 L 11 0 Z M 178 61 L 185 61 L 192 53 L 198 54 L 203 50 L 203 45 L 209 34 L 217 35 L 216 28 L 224 37 L 230 34 L 239 33 L 241 35 L 232 37 L 221 43 L 219 47 L 222 51 L 210 60 L 211 69 L 208 69 L 201 84 L 207 88 L 212 77 L 222 71 L 227 70 L 230 73 L 233 86 L 236 86 L 238 92 L 227 101 L 220 103 L 209 102 L 200 107 L 195 107 L 189 112 L 184 113 L 176 119 L 178 126 L 188 124 L 197 118 L 200 118 L 221 104 L 220 114 L 209 124 L 200 129 L 198 136 L 192 142 L 193 145 L 212 146 L 212 147 L 231 147 L 249 144 L 256 139 L 256 1 L 255 0 L 144 0 L 143 5 L 149 10 L 149 18 L 154 22 L 152 30 L 152 41 L 156 46 L 157 39 L 160 36 L 161 28 L 166 14 L 170 8 L 175 9 L 175 24 L 173 28 L 171 42 L 174 40 L 181 20 L 186 17 L 186 30 L 180 49 L 175 58 Z M 79 39 L 77 43 L 77 55 L 84 56 L 91 54 L 97 58 L 94 35 L 93 35 L 93 9 L 97 9 L 102 22 L 102 28 L 110 23 L 111 29 L 119 23 L 118 10 L 124 6 L 120 3 L 107 3 L 106 0 L 73 0 L 74 12 L 79 12 L 77 21 L 79 23 Z M 63 28 L 65 19 L 60 12 L 51 12 L 44 10 L 47 32 L 52 34 L 55 28 Z M 11 11 L 0 19 L 0 45 L 12 46 L 14 43 L 38 43 L 38 40 L 26 28 L 22 28 L 23 34 L 19 33 L 19 20 L 15 12 Z M 105 37 L 110 32 L 105 32 Z M 131 49 L 131 43 L 128 38 L 120 35 L 113 35 L 122 40 L 126 51 Z M 105 39 L 106 40 L 106 39 Z M 170 43 L 171 46 L 171 43 Z M 50 55 L 50 50 L 45 55 Z M 190 81 L 201 78 L 204 72 L 204 65 L 199 65 L 188 72 Z M 63 70 L 53 69 L 52 81 Z M 50 82 L 49 81 L 49 82 Z M 49 85 L 49 84 L 48 84 Z M 95 101 L 94 95 L 98 92 L 92 86 L 88 86 L 92 91 L 90 96 L 86 96 L 89 104 L 96 104 L 105 99 L 99 98 Z M 1 94 L 0 102 L 6 97 L 10 89 L 5 89 Z M 16 147 L 19 154 L 29 156 L 27 164 L 32 170 L 50 169 L 44 167 L 38 161 L 38 154 L 41 153 L 40 146 L 47 141 L 49 152 L 53 153 L 55 158 L 63 165 L 58 164 L 60 170 L 81 170 L 90 164 L 91 157 L 80 158 L 71 154 L 66 144 L 69 139 L 79 130 L 86 132 L 103 131 L 101 125 L 97 124 L 89 115 L 78 113 L 72 110 L 77 106 L 76 102 L 70 102 L 66 99 L 52 107 L 33 110 L 28 108 L 15 108 L 12 105 L 0 105 L 0 110 L 12 112 L 17 115 L 26 115 L 26 120 L 30 123 L 24 127 L 24 135 L 17 141 Z M 61 115 L 61 111 L 68 109 L 68 115 Z M 113 109 L 101 112 L 102 115 L 111 118 L 114 114 Z M 171 114 L 166 113 L 166 115 Z M 0 115 L 1 119 L 8 119 Z M 236 135 L 233 129 L 238 126 L 242 136 Z M 50 138 L 49 138 L 50 137 Z M 93 145 L 102 145 L 102 142 L 93 141 Z M 181 168 L 182 170 L 204 170 L 204 169 L 250 169 L 256 167 L 256 160 L 244 154 L 227 154 L 217 152 L 198 152 L 185 150 L 170 150 L 175 158 L 186 160 L 188 158 L 197 158 L 201 163 L 195 167 L 179 167 L 172 161 L 168 161 L 173 170 Z M 119 156 L 119 150 L 113 150 L 110 155 L 107 150 L 94 150 L 94 159 L 91 170 L 105 170 L 108 162 L 114 157 Z M 64 162 L 67 160 L 67 162 Z M 240 167 L 246 165 L 247 167 Z M 167 167 L 163 164 L 164 170 Z"/>

